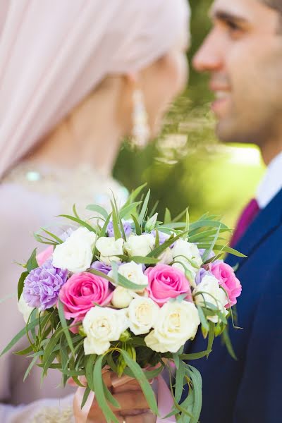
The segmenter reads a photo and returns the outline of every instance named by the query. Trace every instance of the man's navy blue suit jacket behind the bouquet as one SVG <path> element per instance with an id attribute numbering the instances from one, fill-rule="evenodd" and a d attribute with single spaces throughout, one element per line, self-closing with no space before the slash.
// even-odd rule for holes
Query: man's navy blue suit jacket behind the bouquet
<path id="1" fill-rule="evenodd" d="M 235 246 L 247 259 L 237 276 L 243 291 L 238 298 L 238 326 L 230 337 L 238 360 L 216 338 L 209 358 L 189 362 L 203 379 L 201 423 L 282 422 L 282 190 L 257 215 Z M 187 353 L 207 348 L 197 333 Z"/>

